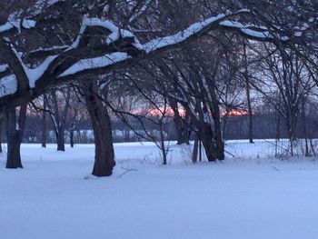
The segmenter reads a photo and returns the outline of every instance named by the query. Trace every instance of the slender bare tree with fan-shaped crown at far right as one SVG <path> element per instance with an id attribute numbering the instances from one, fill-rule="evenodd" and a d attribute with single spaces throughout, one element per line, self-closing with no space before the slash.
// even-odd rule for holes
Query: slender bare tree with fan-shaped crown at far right
<path id="1" fill-rule="evenodd" d="M 282 116 L 288 130 L 290 153 L 293 155 L 293 141 L 296 139 L 302 102 L 313 89 L 313 77 L 298 55 L 286 51 L 283 55 L 267 57 L 262 69 L 263 84 L 259 82 L 259 85 L 254 86 Z"/>

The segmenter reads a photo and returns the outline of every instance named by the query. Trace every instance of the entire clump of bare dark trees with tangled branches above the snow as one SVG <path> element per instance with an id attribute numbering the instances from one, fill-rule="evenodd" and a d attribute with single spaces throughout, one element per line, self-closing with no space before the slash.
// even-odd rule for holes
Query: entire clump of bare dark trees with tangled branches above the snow
<path id="1" fill-rule="evenodd" d="M 253 143 L 252 91 L 276 107 L 292 142 L 301 106 L 317 84 L 317 9 L 315 1 L 2 1 L 6 167 L 22 167 L 27 105 L 42 108 L 43 125 L 51 118 L 63 151 L 65 131 L 72 135 L 81 115 L 77 102 L 84 102 L 94 130 L 93 174 L 112 174 L 110 115 L 128 127 L 126 115 L 142 125 L 142 118 L 154 121 L 118 107 L 120 88 L 160 112 L 155 124 L 162 133 L 171 108 L 179 144 L 193 132 L 209 161 L 224 160 L 224 109 L 246 103 Z M 66 120 L 70 113 L 73 120 Z"/>

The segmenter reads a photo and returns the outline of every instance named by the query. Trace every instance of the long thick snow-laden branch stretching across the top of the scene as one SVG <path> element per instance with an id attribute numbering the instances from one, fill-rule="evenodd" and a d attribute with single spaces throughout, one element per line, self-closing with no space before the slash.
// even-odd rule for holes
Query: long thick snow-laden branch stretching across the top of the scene
<path id="1" fill-rule="evenodd" d="M 61 0 L 60 2 L 64 1 Z M 45 1 L 45 4 L 60 2 L 52 0 Z M 139 11 L 132 15 L 130 21 L 134 21 L 136 17 L 142 15 L 151 2 L 151 0 L 145 1 Z M 8 71 L 11 71 L 15 75 L 15 80 L 10 76 L 11 80 L 0 78 L 0 83 L 5 87 L 11 85 L 9 88 L 16 88 L 16 90 L 0 95 L 0 104 L 1 101 L 5 101 L 5 96 L 9 94 L 15 95 L 17 92 L 21 93 L 23 91 L 26 94 L 25 100 L 30 100 L 42 94 L 51 85 L 65 84 L 90 75 L 107 74 L 124 65 L 134 64 L 161 52 L 193 42 L 201 35 L 211 31 L 236 31 L 244 37 L 266 42 L 273 42 L 273 40 L 286 42 L 289 40 L 285 35 L 272 33 L 266 26 L 244 24 L 237 21 L 240 16 L 250 14 L 251 12 L 248 9 L 242 9 L 234 13 L 227 12 L 226 14 L 212 16 L 204 21 L 189 25 L 174 35 L 155 38 L 144 44 L 131 31 L 122 29 L 114 22 L 104 18 L 89 17 L 88 15 L 83 15 L 82 22 L 77 23 L 79 24 L 79 30 L 76 35 L 73 35 L 74 40 L 67 44 L 62 42 L 64 45 L 58 43 L 50 47 L 41 46 L 30 52 L 20 54 L 15 51 L 13 45 L 6 44 L 4 38 L 2 39 L 3 47 L 0 48 L 0 53 L 4 55 L 4 49 L 6 49 L 5 51 L 9 57 L 6 57 L 7 62 L 4 62 L 4 65 L 0 67 L 0 77 L 4 72 L 6 73 L 5 77 L 8 77 Z M 27 28 L 35 25 L 34 20 L 11 21 L 0 26 L 0 36 L 1 33 L 13 28 L 19 32 L 21 27 Z M 305 29 L 306 25 L 303 25 L 299 32 Z M 32 65 L 36 66 L 32 67 L 32 65 L 25 64 L 21 55 L 34 59 Z M 16 82 L 16 87 L 12 87 L 14 85 L 12 82 Z M 29 89 L 33 89 L 32 92 Z"/>

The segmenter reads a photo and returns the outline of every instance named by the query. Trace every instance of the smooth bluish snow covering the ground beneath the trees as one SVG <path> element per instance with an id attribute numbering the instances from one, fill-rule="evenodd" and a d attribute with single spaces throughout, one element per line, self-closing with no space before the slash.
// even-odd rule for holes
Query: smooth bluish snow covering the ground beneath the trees
<path id="1" fill-rule="evenodd" d="M 274 159 L 272 143 L 230 141 L 216 164 L 171 144 L 166 166 L 154 144 L 115 144 L 107 178 L 93 145 L 24 144 L 24 169 L 0 156 L 0 238 L 318 238 L 318 161 Z"/>

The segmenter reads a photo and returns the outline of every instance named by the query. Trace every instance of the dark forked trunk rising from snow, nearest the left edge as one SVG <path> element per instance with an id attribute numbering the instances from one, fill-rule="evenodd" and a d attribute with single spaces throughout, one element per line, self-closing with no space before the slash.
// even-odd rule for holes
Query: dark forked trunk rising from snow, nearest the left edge
<path id="1" fill-rule="evenodd" d="M 6 108 L 7 158 L 6 168 L 22 168 L 20 147 L 25 131 L 26 105 L 22 105 L 16 115 L 15 107 Z"/>

